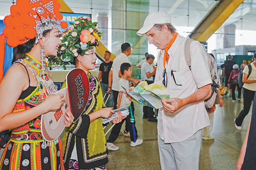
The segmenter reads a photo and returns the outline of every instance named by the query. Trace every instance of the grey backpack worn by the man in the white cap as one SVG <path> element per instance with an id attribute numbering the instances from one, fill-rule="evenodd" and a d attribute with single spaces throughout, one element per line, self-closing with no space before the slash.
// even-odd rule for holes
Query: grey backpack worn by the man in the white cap
<path id="1" fill-rule="evenodd" d="M 184 45 L 184 55 L 185 55 L 186 63 L 189 66 L 189 70 L 191 70 L 190 44 L 193 41 L 194 40 L 191 40 L 190 38 L 188 38 Z M 205 54 L 207 54 L 209 72 L 211 73 L 211 78 L 212 78 L 212 84 L 211 84 L 212 91 L 211 91 L 211 97 L 207 98 L 204 101 L 204 104 L 205 104 L 205 107 L 211 108 L 215 102 L 218 88 L 220 88 L 220 75 L 218 74 L 216 59 L 213 56 L 211 56 L 211 54 L 208 54 L 206 50 L 205 50 Z"/>

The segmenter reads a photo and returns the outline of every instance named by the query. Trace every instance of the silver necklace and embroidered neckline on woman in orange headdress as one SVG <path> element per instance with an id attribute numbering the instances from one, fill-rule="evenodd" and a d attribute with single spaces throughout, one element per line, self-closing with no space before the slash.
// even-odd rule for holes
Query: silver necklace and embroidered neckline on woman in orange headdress
<path id="1" fill-rule="evenodd" d="M 49 78 L 49 73 L 46 70 L 42 70 L 42 65 L 39 61 L 33 58 L 31 55 L 26 54 L 26 58 L 18 59 L 15 62 L 22 63 L 28 67 L 28 69 L 33 74 L 33 79 L 35 80 L 36 84 L 38 84 L 39 91 L 41 94 L 45 91 L 46 95 L 51 95 L 56 93 L 57 88 Z M 46 63 L 47 64 L 47 63 Z M 37 73 L 35 72 L 37 70 Z M 44 100 L 45 98 L 42 98 Z"/>

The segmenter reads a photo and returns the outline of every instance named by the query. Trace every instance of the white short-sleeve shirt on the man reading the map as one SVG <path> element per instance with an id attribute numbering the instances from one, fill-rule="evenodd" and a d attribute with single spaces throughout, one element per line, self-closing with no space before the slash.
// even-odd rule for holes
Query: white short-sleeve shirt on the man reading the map
<path id="1" fill-rule="evenodd" d="M 190 46 L 191 70 L 189 70 L 184 57 L 185 41 L 186 38 L 178 35 L 168 50 L 170 59 L 166 63 L 167 90 L 171 98 L 186 98 L 198 88 L 212 83 L 205 50 L 196 41 L 192 42 Z M 157 59 L 156 82 L 163 81 L 163 56 L 164 50 L 160 50 Z M 176 83 L 171 72 L 173 72 Z M 181 84 L 181 86 L 177 84 Z M 157 130 L 164 143 L 183 141 L 209 125 L 204 101 L 188 104 L 174 113 L 164 111 L 163 107 L 159 109 Z"/>

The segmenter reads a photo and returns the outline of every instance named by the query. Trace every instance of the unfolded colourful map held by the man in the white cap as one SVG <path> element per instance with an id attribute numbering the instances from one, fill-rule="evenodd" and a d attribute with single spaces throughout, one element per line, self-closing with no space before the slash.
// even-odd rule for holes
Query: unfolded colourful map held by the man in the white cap
<path id="1" fill-rule="evenodd" d="M 124 90 L 127 91 L 125 88 Z M 131 96 L 132 101 L 156 109 L 163 107 L 161 98 L 170 98 L 167 89 L 161 81 L 150 85 L 147 84 L 147 81 L 142 81 L 136 88 L 132 89 L 132 91 L 127 91 L 127 93 Z"/>

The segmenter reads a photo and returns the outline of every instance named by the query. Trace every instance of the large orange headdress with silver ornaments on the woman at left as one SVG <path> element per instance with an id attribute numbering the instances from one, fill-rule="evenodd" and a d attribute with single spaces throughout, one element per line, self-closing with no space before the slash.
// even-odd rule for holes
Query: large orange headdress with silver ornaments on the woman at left
<path id="1" fill-rule="evenodd" d="M 0 82 L 3 77 L 4 42 L 17 47 L 36 38 L 42 38 L 44 31 L 66 28 L 67 22 L 61 22 L 58 0 L 17 0 L 10 8 L 10 15 L 4 18 L 6 28 L 0 36 Z"/>

